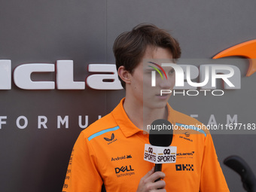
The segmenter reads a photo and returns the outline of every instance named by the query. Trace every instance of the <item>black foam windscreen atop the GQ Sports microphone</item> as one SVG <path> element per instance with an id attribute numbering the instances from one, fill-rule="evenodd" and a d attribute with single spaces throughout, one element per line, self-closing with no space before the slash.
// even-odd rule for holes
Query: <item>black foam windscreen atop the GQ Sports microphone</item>
<path id="1" fill-rule="evenodd" d="M 168 147 L 172 144 L 172 136 L 172 123 L 168 120 L 158 119 L 151 123 L 151 129 L 149 130 L 149 142 L 151 145 Z"/>

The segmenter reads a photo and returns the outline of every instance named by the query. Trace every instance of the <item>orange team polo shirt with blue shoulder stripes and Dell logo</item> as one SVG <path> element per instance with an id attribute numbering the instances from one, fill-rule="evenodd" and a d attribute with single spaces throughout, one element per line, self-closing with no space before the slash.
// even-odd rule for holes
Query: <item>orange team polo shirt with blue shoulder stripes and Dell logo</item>
<path id="1" fill-rule="evenodd" d="M 123 101 L 83 130 L 75 142 L 62 192 L 136 192 L 140 179 L 154 166 L 144 160 L 148 134 L 127 117 Z M 182 130 L 185 125 L 202 125 L 198 120 L 173 110 L 168 120 L 180 129 L 174 131 L 176 163 L 163 164 L 166 191 L 229 191 L 215 153 L 212 136 L 200 130 Z"/>

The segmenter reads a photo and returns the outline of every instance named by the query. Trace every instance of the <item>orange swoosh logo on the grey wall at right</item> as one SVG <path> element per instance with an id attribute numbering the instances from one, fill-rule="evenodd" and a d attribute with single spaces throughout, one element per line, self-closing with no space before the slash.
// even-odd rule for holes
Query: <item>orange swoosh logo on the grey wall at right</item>
<path id="1" fill-rule="evenodd" d="M 249 59 L 249 68 L 246 76 L 251 76 L 256 72 L 256 39 L 246 41 L 242 44 L 236 44 L 227 50 L 221 51 L 221 53 L 218 53 L 212 57 L 212 59 L 218 59 L 225 56 L 243 56 Z"/>

